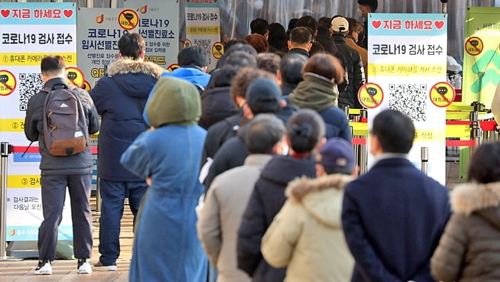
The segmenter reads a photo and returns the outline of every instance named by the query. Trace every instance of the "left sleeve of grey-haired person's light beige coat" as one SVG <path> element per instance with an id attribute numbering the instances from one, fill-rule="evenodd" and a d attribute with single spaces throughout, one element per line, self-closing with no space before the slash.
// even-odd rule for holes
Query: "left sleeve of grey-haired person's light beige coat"
<path id="1" fill-rule="evenodd" d="M 203 210 L 197 222 L 198 236 L 208 260 L 217 266 L 219 253 L 222 245 L 221 224 L 219 216 L 219 199 L 217 199 L 218 181 L 215 179 L 211 189 L 207 193 Z"/>

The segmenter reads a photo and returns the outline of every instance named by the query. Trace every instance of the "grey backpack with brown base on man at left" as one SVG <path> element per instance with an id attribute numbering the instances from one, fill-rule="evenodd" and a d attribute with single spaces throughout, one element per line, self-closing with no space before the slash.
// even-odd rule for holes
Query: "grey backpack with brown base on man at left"
<path id="1" fill-rule="evenodd" d="M 44 140 L 52 156 L 71 156 L 88 148 L 88 126 L 78 88 L 56 84 L 47 92 L 44 102 Z"/>

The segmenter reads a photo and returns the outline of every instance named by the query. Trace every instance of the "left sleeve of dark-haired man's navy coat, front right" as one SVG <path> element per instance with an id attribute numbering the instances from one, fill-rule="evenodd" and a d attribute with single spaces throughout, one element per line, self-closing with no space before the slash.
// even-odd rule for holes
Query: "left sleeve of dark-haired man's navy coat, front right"
<path id="1" fill-rule="evenodd" d="M 342 228 L 349 246 L 349 250 L 356 260 L 356 265 L 361 267 L 374 281 L 401 281 L 394 276 L 383 262 L 378 258 L 374 248 L 367 239 L 361 217 L 358 213 L 358 204 L 351 194 L 347 184 L 344 188 L 342 202 Z"/>

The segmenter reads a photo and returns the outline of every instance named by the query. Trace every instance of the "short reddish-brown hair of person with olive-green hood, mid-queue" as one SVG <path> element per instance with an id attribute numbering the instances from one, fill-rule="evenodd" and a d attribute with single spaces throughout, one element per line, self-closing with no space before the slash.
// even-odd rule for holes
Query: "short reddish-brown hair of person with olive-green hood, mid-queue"
<path id="1" fill-rule="evenodd" d="M 341 83 L 344 79 L 344 67 L 338 58 L 328 53 L 316 53 L 303 67 L 303 73 L 312 72 L 319 74 L 329 80 L 333 79 L 334 83 Z"/>

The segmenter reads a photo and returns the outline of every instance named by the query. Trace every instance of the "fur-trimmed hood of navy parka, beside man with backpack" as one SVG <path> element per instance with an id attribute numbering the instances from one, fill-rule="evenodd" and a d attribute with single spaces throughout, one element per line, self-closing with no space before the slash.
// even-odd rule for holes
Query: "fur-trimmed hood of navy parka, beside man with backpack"
<path id="1" fill-rule="evenodd" d="M 144 87 L 144 82 L 149 81 L 151 78 L 154 81 L 158 80 L 163 72 L 165 72 L 165 69 L 159 65 L 124 58 L 116 60 L 108 67 L 108 76 L 112 76 L 119 88 L 127 96 L 140 99 L 147 98 L 151 90 Z"/>

